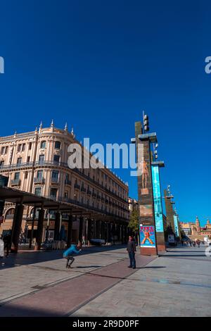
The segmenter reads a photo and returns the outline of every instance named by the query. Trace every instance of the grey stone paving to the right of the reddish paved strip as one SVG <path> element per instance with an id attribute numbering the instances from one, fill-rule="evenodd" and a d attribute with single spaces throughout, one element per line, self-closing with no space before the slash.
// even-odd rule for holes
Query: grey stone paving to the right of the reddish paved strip
<path id="1" fill-rule="evenodd" d="M 71 316 L 211 316 L 211 257 L 168 249 Z"/>

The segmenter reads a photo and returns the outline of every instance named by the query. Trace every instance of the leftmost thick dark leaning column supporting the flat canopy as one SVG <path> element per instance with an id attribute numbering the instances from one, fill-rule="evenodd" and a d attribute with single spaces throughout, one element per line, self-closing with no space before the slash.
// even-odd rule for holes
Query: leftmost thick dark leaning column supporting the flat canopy
<path id="1" fill-rule="evenodd" d="M 13 217 L 13 227 L 12 227 L 12 235 L 11 235 L 11 252 L 18 252 L 18 244 L 20 238 L 21 231 L 21 223 L 23 219 L 23 204 L 15 204 L 15 213 Z"/>

